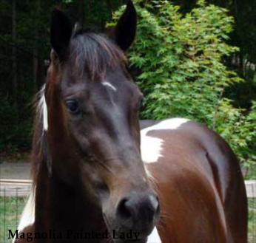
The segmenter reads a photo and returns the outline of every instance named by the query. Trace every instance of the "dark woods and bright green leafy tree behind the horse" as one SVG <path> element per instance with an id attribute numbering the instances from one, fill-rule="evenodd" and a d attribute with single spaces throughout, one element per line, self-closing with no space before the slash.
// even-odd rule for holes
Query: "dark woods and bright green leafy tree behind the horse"
<path id="1" fill-rule="evenodd" d="M 74 23 L 101 31 L 124 2 L 0 0 L 1 153 L 30 149 L 31 102 L 49 63 L 53 6 L 61 5 Z M 141 117 L 206 123 L 228 140 L 253 177 L 256 2 L 134 2 L 138 37 L 127 54 L 145 95 Z"/>

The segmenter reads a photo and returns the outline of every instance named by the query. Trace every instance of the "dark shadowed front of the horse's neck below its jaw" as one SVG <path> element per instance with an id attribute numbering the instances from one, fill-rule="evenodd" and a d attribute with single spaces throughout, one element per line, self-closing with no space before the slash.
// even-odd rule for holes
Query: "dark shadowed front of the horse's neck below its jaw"
<path id="1" fill-rule="evenodd" d="M 55 174 L 49 178 L 47 165 L 41 164 L 36 185 L 36 232 L 66 233 L 106 230 L 100 209 L 87 194 L 61 182 Z"/>

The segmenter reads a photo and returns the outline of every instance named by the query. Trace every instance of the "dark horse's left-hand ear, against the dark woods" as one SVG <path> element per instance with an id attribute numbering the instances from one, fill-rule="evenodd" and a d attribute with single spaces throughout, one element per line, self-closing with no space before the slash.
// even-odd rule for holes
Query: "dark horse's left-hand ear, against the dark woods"
<path id="1" fill-rule="evenodd" d="M 64 57 L 70 44 L 71 35 L 72 24 L 70 19 L 58 7 L 55 7 L 50 27 L 50 43 L 58 58 Z"/>

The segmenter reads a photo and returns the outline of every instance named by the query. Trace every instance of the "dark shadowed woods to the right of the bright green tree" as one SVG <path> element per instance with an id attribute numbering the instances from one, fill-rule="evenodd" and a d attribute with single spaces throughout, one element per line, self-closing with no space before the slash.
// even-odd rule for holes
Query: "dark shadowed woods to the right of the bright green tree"
<path id="1" fill-rule="evenodd" d="M 170 1 L 170 0 L 169 0 Z M 226 89 L 226 96 L 235 101 L 236 107 L 247 110 L 256 99 L 256 17 L 254 0 L 206 0 L 210 4 L 225 7 L 228 14 L 235 18 L 234 31 L 230 34 L 229 43 L 239 47 L 239 52 L 234 52 L 226 58 L 226 65 L 235 70 L 245 82 L 235 83 Z M 197 1 L 174 0 L 181 6 L 181 13 L 189 13 Z"/>

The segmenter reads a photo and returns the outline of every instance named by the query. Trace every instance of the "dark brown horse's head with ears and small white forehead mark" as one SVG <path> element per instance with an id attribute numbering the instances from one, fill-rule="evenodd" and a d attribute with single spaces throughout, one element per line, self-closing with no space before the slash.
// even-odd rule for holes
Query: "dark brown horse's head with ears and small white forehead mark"
<path id="1" fill-rule="evenodd" d="M 158 221 L 159 204 L 141 160 L 143 95 L 123 53 L 135 32 L 132 1 L 115 27 L 114 41 L 73 31 L 67 16 L 54 10 L 44 130 L 53 177 L 87 195 L 111 230 L 132 230 L 146 239 Z"/>

